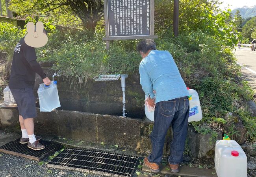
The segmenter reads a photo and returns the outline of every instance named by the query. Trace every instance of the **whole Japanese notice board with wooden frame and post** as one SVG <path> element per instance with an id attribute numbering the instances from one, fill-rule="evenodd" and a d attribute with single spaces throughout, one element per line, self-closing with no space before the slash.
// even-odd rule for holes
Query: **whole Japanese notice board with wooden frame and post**
<path id="1" fill-rule="evenodd" d="M 154 0 L 104 0 L 106 48 L 109 41 L 155 39 Z"/>

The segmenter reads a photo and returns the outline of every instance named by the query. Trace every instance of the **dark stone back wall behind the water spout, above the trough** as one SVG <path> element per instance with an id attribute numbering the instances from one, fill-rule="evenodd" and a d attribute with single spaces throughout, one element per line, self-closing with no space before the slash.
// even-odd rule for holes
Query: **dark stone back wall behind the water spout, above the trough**
<path id="1" fill-rule="evenodd" d="M 49 66 L 51 65 L 49 63 L 43 63 L 41 65 L 49 79 L 52 79 L 54 71 L 50 69 Z M 75 77 L 65 79 L 61 76 L 59 78 L 57 77 L 55 80 L 58 81 L 58 93 L 61 102 L 60 109 L 122 116 L 123 104 L 121 80 L 88 80 L 86 84 L 79 84 L 78 78 Z M 39 87 L 39 83 L 42 82 L 41 77 L 37 75 L 35 94 Z M 76 86 L 76 88 L 70 88 L 70 85 Z M 126 116 L 132 118 L 144 118 L 145 94 L 139 83 L 139 74 L 129 75 L 126 79 L 125 98 Z"/>

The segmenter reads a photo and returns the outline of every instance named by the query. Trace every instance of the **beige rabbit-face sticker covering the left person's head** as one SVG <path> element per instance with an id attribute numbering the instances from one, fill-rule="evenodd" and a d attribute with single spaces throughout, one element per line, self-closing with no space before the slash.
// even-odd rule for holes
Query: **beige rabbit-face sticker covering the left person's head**
<path id="1" fill-rule="evenodd" d="M 39 48 L 45 46 L 48 42 L 48 37 L 44 31 L 44 24 L 42 22 L 37 22 L 34 25 L 33 22 L 28 22 L 27 24 L 28 33 L 25 36 L 25 43 L 28 46 Z"/>

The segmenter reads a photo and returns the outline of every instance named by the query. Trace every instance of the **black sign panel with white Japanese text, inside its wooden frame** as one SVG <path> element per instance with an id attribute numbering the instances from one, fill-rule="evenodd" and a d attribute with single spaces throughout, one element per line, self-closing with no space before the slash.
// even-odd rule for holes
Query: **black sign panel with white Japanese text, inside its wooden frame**
<path id="1" fill-rule="evenodd" d="M 150 35 L 150 0 L 108 0 L 109 37 Z"/>

